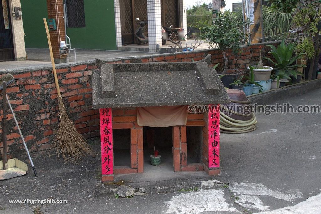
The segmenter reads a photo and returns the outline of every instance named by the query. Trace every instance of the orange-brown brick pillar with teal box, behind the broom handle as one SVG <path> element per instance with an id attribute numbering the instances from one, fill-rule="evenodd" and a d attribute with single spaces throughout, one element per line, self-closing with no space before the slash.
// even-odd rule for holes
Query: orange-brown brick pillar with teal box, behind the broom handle
<path id="1" fill-rule="evenodd" d="M 65 20 L 63 0 L 47 0 L 48 19 L 55 19 L 57 29 L 49 31 L 55 63 L 66 62 L 66 56 L 60 56 L 60 41 L 65 41 Z"/>

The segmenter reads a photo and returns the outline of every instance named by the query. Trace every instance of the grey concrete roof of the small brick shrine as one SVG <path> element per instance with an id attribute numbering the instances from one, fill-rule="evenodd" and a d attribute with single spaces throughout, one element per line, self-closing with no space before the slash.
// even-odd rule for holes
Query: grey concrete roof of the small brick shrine
<path id="1" fill-rule="evenodd" d="M 101 64 L 92 75 L 93 108 L 229 103 L 210 59 Z"/>

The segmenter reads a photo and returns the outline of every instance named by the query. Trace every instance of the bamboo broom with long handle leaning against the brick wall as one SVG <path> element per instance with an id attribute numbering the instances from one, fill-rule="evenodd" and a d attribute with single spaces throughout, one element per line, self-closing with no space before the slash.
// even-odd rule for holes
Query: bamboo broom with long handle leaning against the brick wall
<path id="1" fill-rule="evenodd" d="M 56 152 L 59 156 L 61 155 L 65 161 L 76 161 L 80 160 L 86 154 L 93 155 L 93 151 L 89 144 L 82 138 L 82 136 L 77 132 L 73 125 L 73 122 L 69 119 L 64 103 L 62 101 L 62 96 L 60 94 L 59 83 L 56 73 L 56 66 L 54 62 L 54 56 L 52 54 L 52 47 L 49 35 L 49 29 L 47 20 L 43 19 L 45 28 L 47 31 L 48 45 L 52 63 L 52 70 L 55 77 L 56 88 L 57 88 L 57 100 L 59 108 L 59 125 L 56 136 L 54 137 L 51 148 L 56 148 Z M 49 150 L 49 152 L 50 152 Z"/>

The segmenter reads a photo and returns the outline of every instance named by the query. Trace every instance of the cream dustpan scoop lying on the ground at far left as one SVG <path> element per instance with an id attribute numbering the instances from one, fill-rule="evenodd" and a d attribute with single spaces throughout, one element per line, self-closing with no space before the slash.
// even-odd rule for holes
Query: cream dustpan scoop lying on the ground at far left
<path id="1" fill-rule="evenodd" d="M 3 161 L 0 161 L 0 180 L 25 175 L 28 171 L 26 163 L 16 158 L 7 160 L 6 169 L 3 169 Z"/>

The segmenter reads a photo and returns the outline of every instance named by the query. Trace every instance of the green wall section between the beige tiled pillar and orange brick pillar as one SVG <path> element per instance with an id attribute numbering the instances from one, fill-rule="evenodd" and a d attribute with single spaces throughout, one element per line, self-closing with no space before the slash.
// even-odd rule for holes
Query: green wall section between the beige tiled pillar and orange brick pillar
<path id="1" fill-rule="evenodd" d="M 21 0 L 23 30 L 26 47 L 48 48 L 43 18 L 48 19 L 47 1 Z"/>

